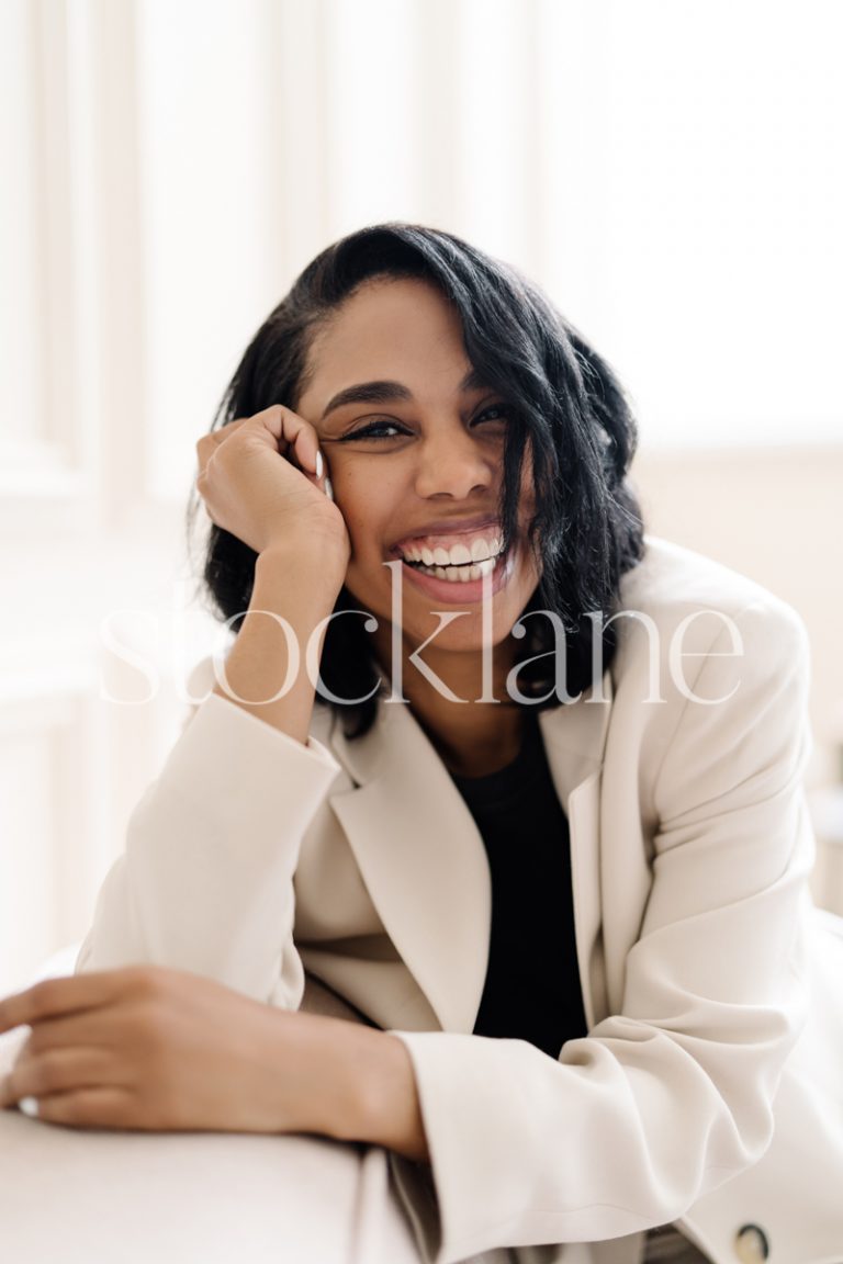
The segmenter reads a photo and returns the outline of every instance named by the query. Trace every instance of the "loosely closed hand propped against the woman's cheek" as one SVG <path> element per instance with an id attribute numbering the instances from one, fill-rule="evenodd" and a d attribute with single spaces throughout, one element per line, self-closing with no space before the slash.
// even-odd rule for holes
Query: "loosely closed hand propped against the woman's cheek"
<path id="1" fill-rule="evenodd" d="M 310 422 L 273 404 L 203 435 L 196 451 L 196 488 L 212 522 L 257 554 L 316 547 L 324 566 L 327 546 L 345 575 L 349 533 L 326 490 L 327 468 Z"/>

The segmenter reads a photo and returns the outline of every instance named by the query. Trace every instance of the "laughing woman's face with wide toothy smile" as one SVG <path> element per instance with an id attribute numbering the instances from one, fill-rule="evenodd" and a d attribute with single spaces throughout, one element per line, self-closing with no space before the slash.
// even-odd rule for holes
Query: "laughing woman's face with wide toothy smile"
<path id="1" fill-rule="evenodd" d="M 368 282 L 316 335 L 308 368 L 296 411 L 318 431 L 348 525 L 349 590 L 388 624 L 399 576 L 406 642 L 417 648 L 437 629 L 435 612 L 460 611 L 435 643 L 476 650 L 485 586 L 499 643 L 538 576 L 523 538 L 494 559 L 506 401 L 473 377 L 454 308 L 423 281 Z M 523 488 L 522 532 L 527 469 Z"/>

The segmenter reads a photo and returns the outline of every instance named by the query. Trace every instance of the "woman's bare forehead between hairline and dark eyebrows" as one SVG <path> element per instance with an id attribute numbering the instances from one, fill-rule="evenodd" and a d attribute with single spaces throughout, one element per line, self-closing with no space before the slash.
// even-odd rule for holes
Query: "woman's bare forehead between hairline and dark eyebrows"
<path id="1" fill-rule="evenodd" d="M 415 389 L 420 380 L 454 379 L 470 368 L 459 315 L 430 282 L 378 278 L 365 282 L 316 334 L 307 358 L 301 403 L 318 404 L 334 392 L 377 378 Z"/>

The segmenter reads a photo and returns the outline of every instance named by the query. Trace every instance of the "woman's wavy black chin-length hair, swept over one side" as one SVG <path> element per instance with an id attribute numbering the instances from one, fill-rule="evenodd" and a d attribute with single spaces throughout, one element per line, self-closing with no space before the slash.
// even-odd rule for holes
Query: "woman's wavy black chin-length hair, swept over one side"
<path id="1" fill-rule="evenodd" d="M 540 586 L 523 612 L 549 611 L 565 627 L 566 684 L 571 695 L 591 679 L 593 638 L 618 604 L 621 576 L 643 555 L 643 525 L 627 471 L 637 427 L 609 365 L 552 307 L 537 286 L 460 238 L 416 224 L 380 224 L 329 246 L 302 272 L 260 326 L 222 397 L 212 430 L 279 403 L 293 411 L 307 384 L 307 355 L 322 322 L 373 278 L 413 277 L 439 287 L 456 308 L 471 367 L 507 401 L 500 523 L 504 547 L 514 538 L 525 450 L 533 465 L 536 512 L 530 528 Z M 188 540 L 201 498 L 193 489 Z M 211 523 L 200 585 L 217 617 L 244 616 L 257 554 Z M 343 588 L 336 611 L 356 608 Z M 551 621 L 527 619 L 531 662 L 519 689 L 536 705 L 554 705 L 556 679 Z M 604 636 L 603 664 L 614 650 Z M 363 622 L 331 619 L 321 679 L 334 695 L 373 696 L 343 707 L 346 732 L 367 732 L 377 713 L 378 669 Z"/>

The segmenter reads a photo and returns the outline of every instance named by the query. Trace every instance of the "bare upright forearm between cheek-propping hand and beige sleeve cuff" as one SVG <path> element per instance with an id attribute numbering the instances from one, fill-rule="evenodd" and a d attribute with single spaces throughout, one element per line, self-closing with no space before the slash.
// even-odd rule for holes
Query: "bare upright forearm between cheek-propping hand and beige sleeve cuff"
<path id="1" fill-rule="evenodd" d="M 306 669 L 306 650 L 313 629 L 334 609 L 341 583 L 343 576 L 332 574 L 330 565 L 318 566 L 312 557 L 289 550 L 260 554 L 249 611 L 225 662 L 230 693 L 219 681 L 214 693 L 298 742 L 307 742 L 316 688 Z M 291 683 L 288 638 L 293 637 L 298 662 L 292 664 Z M 283 696 L 276 698 L 282 689 Z"/>

